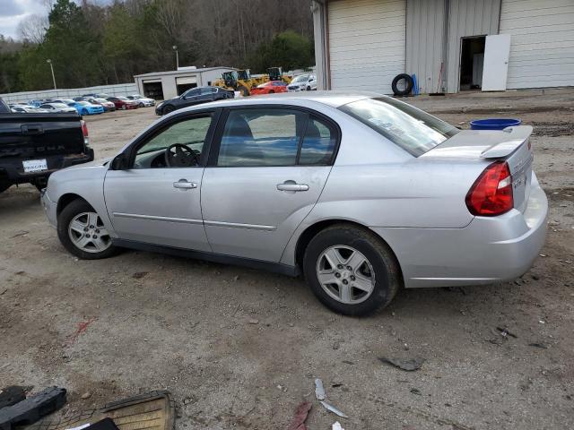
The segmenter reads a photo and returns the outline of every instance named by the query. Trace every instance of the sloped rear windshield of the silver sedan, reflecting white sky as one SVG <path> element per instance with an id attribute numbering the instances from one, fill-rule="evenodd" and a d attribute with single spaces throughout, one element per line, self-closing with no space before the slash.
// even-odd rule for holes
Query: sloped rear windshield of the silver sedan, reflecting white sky
<path id="1" fill-rule="evenodd" d="M 369 125 L 414 157 L 458 133 L 456 127 L 439 118 L 387 97 L 353 101 L 340 109 Z"/>

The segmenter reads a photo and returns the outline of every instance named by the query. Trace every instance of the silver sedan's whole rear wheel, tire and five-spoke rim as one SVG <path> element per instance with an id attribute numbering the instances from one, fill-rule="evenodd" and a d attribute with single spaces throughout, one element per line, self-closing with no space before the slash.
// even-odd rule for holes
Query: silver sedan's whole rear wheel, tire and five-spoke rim
<path id="1" fill-rule="evenodd" d="M 321 303 L 338 314 L 371 314 L 387 306 L 401 285 L 388 246 L 368 229 L 349 224 L 336 224 L 311 239 L 303 271 Z"/>

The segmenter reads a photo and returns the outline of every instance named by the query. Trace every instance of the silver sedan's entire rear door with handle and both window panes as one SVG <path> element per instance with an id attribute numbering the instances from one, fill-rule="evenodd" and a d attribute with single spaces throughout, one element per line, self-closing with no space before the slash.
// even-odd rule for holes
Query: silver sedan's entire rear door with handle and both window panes
<path id="1" fill-rule="evenodd" d="M 202 182 L 213 252 L 279 262 L 335 159 L 339 128 L 292 107 L 227 110 Z"/>

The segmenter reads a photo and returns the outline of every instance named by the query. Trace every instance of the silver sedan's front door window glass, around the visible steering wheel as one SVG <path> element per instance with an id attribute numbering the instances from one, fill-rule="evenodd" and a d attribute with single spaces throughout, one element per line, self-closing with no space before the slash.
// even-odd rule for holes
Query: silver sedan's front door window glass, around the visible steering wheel
<path id="1" fill-rule="evenodd" d="M 169 125 L 138 148 L 134 168 L 167 168 L 165 152 L 176 143 L 185 145 L 199 159 L 212 118 L 213 114 L 206 114 Z"/>

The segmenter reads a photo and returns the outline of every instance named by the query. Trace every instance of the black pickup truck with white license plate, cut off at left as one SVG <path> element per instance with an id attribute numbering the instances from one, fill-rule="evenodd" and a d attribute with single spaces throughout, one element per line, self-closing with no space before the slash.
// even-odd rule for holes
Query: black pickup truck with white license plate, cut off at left
<path id="1" fill-rule="evenodd" d="M 14 114 L 0 99 L 0 193 L 14 184 L 42 189 L 56 170 L 91 160 L 81 116 Z"/>

